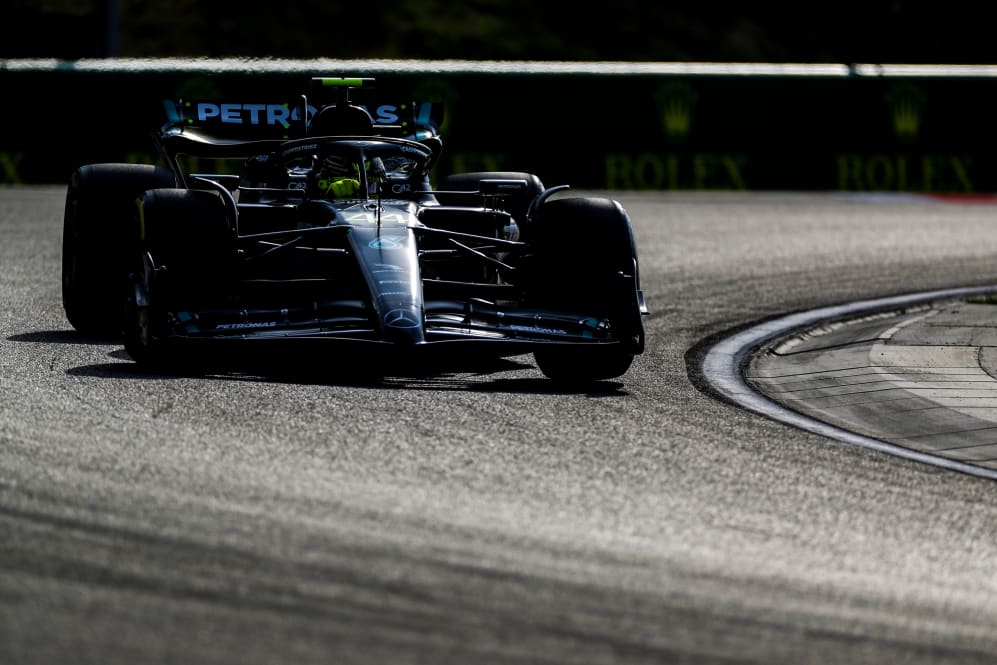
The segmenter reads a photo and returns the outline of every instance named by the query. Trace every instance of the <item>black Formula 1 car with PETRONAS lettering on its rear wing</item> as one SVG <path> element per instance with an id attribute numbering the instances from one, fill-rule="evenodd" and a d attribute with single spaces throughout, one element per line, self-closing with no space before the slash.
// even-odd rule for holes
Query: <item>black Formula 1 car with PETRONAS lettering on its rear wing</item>
<path id="1" fill-rule="evenodd" d="M 120 335 L 154 371 L 222 345 L 339 342 L 347 355 L 532 353 L 558 381 L 625 374 L 648 309 L 624 208 L 531 173 L 433 188 L 435 111 L 372 114 L 350 99 L 371 81 L 313 79 L 338 93 L 326 105 L 169 102 L 153 135 L 162 164 L 79 168 L 63 233 L 70 324 Z"/>

